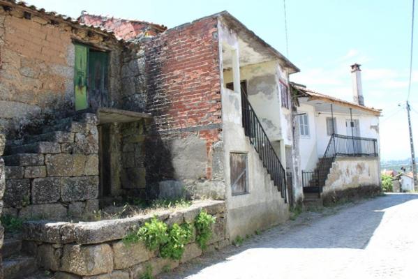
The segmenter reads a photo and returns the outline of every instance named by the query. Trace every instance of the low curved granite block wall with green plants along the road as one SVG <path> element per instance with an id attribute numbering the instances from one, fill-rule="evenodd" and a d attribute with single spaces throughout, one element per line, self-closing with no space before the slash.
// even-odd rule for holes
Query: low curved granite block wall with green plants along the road
<path id="1" fill-rule="evenodd" d="M 158 218 L 167 225 L 192 223 L 202 209 L 216 216 L 208 250 L 229 244 L 225 234 L 225 202 L 198 201 L 187 209 L 158 213 Z M 124 236 L 151 218 L 135 216 L 87 223 L 31 221 L 24 224 L 23 246 L 36 255 L 40 267 L 55 272 L 57 279 L 141 278 L 149 266 L 156 275 L 202 255 L 195 237 L 187 244 L 180 260 L 159 257 L 142 242 L 126 246 L 122 241 Z"/>

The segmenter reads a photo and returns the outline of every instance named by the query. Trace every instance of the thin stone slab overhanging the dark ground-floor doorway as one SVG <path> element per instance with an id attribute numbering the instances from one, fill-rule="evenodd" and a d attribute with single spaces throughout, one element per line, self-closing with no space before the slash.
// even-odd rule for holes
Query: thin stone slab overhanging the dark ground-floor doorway
<path id="1" fill-rule="evenodd" d="M 151 119 L 151 114 L 142 112 L 132 112 L 130 110 L 118 110 L 110 107 L 100 107 L 97 110 L 99 124 L 105 123 L 128 123 Z"/>

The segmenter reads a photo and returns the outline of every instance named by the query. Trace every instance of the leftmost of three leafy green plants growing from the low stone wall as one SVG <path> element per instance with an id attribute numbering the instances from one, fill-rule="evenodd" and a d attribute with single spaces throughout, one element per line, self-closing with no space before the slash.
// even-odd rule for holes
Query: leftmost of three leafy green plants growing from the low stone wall
<path id="1" fill-rule="evenodd" d="M 138 229 L 137 236 L 144 241 L 145 246 L 149 250 L 157 250 L 162 244 L 168 241 L 167 225 L 154 217 L 151 219 L 151 222 L 145 222 Z"/>

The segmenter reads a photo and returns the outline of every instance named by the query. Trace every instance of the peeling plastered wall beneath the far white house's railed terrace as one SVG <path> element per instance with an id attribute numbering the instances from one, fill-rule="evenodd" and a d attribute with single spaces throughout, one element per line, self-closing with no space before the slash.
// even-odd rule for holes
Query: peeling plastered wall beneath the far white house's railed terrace
<path id="1" fill-rule="evenodd" d="M 380 193 L 378 157 L 337 157 L 322 188 L 324 204 Z"/>

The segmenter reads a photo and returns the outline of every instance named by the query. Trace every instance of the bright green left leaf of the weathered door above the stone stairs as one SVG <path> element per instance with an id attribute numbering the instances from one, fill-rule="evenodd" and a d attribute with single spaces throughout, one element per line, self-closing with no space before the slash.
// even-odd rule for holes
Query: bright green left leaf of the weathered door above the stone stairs
<path id="1" fill-rule="evenodd" d="M 74 93 L 75 110 L 85 110 L 89 107 L 87 102 L 87 55 L 89 48 L 84 45 L 75 45 L 74 66 Z"/>

